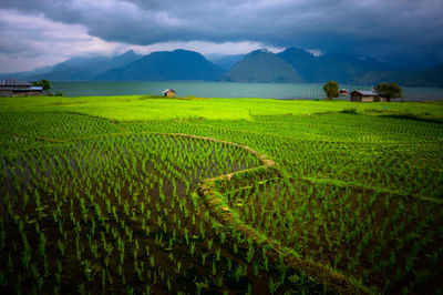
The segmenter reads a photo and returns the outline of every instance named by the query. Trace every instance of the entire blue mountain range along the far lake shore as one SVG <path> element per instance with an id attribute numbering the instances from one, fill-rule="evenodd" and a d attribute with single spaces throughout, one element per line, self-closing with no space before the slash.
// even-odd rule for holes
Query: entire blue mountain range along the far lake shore
<path id="1" fill-rule="evenodd" d="M 279 53 L 256 50 L 248 54 L 206 58 L 174 50 L 146 55 L 130 50 L 114 57 L 72 58 L 30 72 L 0 74 L 0 79 L 51 81 L 233 81 L 267 83 L 324 83 L 373 85 L 383 81 L 404 87 L 443 87 L 443 64 L 424 71 L 393 69 L 370 57 L 337 52 L 313 55 L 300 48 Z"/>

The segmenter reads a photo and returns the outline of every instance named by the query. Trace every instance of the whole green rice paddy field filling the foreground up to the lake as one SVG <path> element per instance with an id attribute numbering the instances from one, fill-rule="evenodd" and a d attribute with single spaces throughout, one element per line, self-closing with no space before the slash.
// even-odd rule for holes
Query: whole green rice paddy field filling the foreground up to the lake
<path id="1" fill-rule="evenodd" d="M 0 98 L 1 294 L 442 294 L 443 104 Z"/>

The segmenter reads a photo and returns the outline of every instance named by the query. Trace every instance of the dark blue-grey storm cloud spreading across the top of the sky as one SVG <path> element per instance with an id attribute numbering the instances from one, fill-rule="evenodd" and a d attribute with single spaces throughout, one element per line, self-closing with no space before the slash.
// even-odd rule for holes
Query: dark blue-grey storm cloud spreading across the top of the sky
<path id="1" fill-rule="evenodd" d="M 443 59 L 441 0 L 1 0 L 128 44 L 256 41 L 377 57 Z"/>

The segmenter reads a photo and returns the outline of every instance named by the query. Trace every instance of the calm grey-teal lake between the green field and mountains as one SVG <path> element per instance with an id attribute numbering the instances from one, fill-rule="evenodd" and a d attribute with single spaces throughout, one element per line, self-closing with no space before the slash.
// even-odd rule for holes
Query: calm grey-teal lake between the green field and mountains
<path id="1" fill-rule="evenodd" d="M 200 98 L 261 98 L 261 99 L 323 99 L 323 84 L 313 83 L 235 83 L 235 82 L 52 82 L 52 92 L 64 91 L 66 96 L 161 95 L 174 89 L 178 96 Z M 353 90 L 372 87 L 340 85 Z M 443 100 L 441 88 L 402 88 L 405 100 Z M 347 98 L 342 98 L 347 99 Z"/>

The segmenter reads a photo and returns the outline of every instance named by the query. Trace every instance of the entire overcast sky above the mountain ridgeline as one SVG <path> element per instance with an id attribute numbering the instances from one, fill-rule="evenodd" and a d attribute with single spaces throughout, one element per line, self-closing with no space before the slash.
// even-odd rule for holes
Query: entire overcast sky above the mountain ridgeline
<path id="1" fill-rule="evenodd" d="M 178 48 L 443 62 L 443 0 L 0 0 L 0 72 Z"/>

